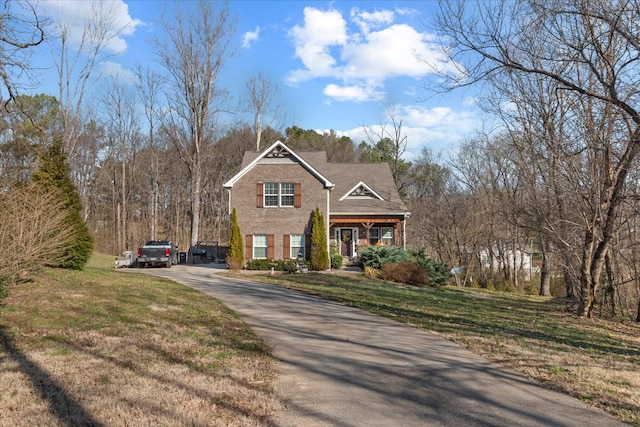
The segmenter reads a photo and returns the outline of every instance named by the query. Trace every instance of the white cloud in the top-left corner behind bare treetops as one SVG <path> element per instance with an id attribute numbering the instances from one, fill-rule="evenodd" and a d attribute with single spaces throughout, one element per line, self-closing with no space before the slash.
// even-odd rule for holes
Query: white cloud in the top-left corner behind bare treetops
<path id="1" fill-rule="evenodd" d="M 126 37 L 143 25 L 142 21 L 129 15 L 129 6 L 123 0 L 40 0 L 38 4 L 55 25 L 68 29 L 69 42 L 76 47 L 80 45 L 85 22 L 89 19 L 100 19 L 98 25 L 107 23 L 105 48 L 111 53 L 126 51 Z"/>

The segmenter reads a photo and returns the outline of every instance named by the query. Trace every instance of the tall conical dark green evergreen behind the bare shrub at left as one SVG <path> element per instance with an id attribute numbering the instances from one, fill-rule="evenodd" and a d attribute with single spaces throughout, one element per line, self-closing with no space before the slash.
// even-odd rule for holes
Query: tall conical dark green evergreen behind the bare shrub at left
<path id="1" fill-rule="evenodd" d="M 69 166 L 62 152 L 62 138 L 54 137 L 51 146 L 40 156 L 38 169 L 33 173 L 34 184 L 51 193 L 62 203 L 67 214 L 61 227 L 72 231 L 73 238 L 62 250 L 54 267 L 81 270 L 89 260 L 93 249 L 93 238 L 87 224 L 82 220 L 82 203 L 70 177 Z M 52 239 L 63 230 L 52 230 Z"/>

